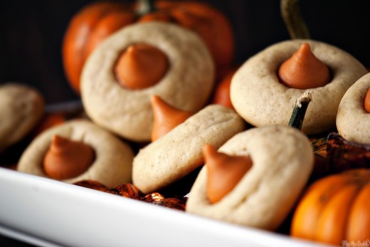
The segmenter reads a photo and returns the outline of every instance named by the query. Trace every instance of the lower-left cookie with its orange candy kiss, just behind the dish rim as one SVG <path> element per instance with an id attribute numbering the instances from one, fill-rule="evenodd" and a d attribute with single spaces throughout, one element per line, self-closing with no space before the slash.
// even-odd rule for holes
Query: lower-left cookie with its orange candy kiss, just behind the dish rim
<path id="1" fill-rule="evenodd" d="M 79 146 L 76 146 L 75 142 L 78 142 Z M 82 148 L 80 148 L 81 144 Z M 75 156 L 69 157 L 68 155 Z M 87 159 L 82 157 L 85 155 Z M 60 167 L 68 169 L 69 162 L 78 160 L 79 163 L 76 165 L 80 166 L 80 163 L 84 162 L 85 168 L 80 169 L 74 177 L 67 178 L 65 178 L 65 173 L 70 171 L 63 170 L 59 172 L 57 177 L 60 179 L 58 180 L 70 184 L 93 180 L 112 187 L 131 181 L 133 157 L 132 149 L 125 142 L 97 127 L 93 122 L 70 120 L 38 135 L 21 155 L 17 169 L 19 172 L 51 177 L 51 174 L 56 174 L 56 171 L 53 167 L 46 169 L 50 167 L 46 162 L 51 161 L 56 164 L 61 159 Z M 47 159 L 50 160 L 46 161 Z"/>

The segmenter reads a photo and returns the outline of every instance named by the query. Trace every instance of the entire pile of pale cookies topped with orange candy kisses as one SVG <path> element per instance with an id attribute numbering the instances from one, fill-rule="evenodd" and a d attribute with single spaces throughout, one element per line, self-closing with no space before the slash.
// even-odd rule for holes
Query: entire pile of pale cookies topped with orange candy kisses
<path id="1" fill-rule="evenodd" d="M 168 189 L 197 171 L 189 214 L 275 231 L 317 166 L 312 135 L 338 130 L 369 144 L 364 100 L 370 77 L 340 48 L 311 39 L 282 41 L 233 70 L 230 106 L 211 100 L 217 69 L 193 31 L 159 21 L 125 26 L 83 65 L 85 117 L 34 137 L 18 171 L 72 184 L 133 184 L 142 194 Z M 308 91 L 302 127 L 290 126 L 297 98 Z M 16 84 L 2 86 L 0 94 L 0 114 L 10 116 L 0 125 L 3 151 L 36 126 L 43 98 Z M 180 120 L 179 112 L 186 117 Z M 152 138 L 172 120 L 176 124 Z"/>

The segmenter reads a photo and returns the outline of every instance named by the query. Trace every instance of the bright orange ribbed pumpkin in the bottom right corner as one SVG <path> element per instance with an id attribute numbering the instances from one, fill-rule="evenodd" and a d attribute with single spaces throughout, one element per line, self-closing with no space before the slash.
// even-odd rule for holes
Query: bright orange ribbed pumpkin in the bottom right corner
<path id="1" fill-rule="evenodd" d="M 336 244 L 370 239 L 370 169 L 350 169 L 314 182 L 294 212 L 291 235 Z"/>

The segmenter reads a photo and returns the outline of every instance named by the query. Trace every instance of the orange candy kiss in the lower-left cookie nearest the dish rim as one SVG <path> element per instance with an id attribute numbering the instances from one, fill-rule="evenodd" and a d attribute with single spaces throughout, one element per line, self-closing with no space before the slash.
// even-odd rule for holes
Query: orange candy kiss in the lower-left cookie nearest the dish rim
<path id="1" fill-rule="evenodd" d="M 43 159 L 43 170 L 52 179 L 70 179 L 83 174 L 95 158 L 89 145 L 54 135 Z"/>

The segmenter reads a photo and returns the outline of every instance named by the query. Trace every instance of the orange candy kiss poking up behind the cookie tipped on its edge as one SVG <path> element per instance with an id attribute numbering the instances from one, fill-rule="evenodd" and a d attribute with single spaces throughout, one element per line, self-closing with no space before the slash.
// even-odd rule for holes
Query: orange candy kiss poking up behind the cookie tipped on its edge
<path id="1" fill-rule="evenodd" d="M 154 117 L 152 142 L 193 115 L 191 112 L 169 105 L 157 95 L 152 97 L 152 109 Z"/>

